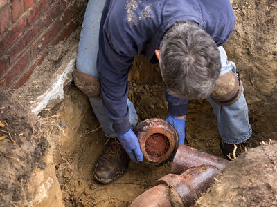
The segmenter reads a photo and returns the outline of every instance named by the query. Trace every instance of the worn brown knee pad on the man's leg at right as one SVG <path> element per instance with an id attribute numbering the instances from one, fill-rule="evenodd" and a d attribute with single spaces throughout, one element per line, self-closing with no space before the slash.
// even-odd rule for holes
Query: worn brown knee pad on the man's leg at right
<path id="1" fill-rule="evenodd" d="M 238 101 L 242 95 L 242 81 L 240 75 L 227 72 L 219 77 L 215 83 L 215 88 L 211 93 L 213 100 L 222 106 L 229 106 Z"/>

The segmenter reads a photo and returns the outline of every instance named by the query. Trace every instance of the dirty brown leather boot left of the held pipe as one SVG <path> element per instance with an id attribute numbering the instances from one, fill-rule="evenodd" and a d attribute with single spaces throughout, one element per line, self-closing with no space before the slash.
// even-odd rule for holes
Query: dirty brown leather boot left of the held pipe
<path id="1" fill-rule="evenodd" d="M 109 138 L 98 159 L 93 178 L 102 184 L 109 184 L 126 172 L 129 161 L 129 156 L 118 139 Z"/>

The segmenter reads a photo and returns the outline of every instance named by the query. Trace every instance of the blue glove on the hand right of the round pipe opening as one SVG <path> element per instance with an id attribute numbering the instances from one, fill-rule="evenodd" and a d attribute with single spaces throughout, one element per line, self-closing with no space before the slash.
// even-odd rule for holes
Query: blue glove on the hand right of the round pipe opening
<path id="1" fill-rule="evenodd" d="M 171 126 L 173 126 L 173 128 L 175 128 L 178 137 L 179 137 L 179 144 L 184 144 L 185 142 L 185 121 L 186 119 L 179 119 L 177 117 L 173 117 L 172 115 L 168 115 L 168 117 L 166 117 L 165 119 L 166 121 L 168 121 L 169 124 L 171 124 Z"/>

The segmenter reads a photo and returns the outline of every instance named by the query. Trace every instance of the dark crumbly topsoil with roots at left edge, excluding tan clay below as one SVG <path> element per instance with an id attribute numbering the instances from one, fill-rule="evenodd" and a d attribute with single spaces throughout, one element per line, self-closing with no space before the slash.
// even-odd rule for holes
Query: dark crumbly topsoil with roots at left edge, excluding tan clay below
<path id="1" fill-rule="evenodd" d="M 49 143 L 38 134 L 35 118 L 0 90 L 0 206 L 30 206 L 29 181 L 35 168 L 44 170 Z"/>

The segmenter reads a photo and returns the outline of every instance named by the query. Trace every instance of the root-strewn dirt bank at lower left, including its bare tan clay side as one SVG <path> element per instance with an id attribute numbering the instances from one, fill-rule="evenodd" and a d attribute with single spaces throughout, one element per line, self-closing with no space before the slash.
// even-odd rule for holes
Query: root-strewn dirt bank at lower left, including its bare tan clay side
<path id="1" fill-rule="evenodd" d="M 64 206 L 46 119 L 28 116 L 3 90 L 0 106 L 0 206 Z"/>

